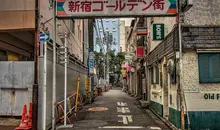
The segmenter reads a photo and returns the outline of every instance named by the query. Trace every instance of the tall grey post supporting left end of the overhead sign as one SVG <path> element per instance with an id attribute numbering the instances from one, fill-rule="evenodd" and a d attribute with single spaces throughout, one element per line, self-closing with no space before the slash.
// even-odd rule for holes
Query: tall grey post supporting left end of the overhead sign
<path id="1" fill-rule="evenodd" d="M 56 0 L 53 1 L 53 90 L 52 90 L 52 130 L 56 128 Z"/>

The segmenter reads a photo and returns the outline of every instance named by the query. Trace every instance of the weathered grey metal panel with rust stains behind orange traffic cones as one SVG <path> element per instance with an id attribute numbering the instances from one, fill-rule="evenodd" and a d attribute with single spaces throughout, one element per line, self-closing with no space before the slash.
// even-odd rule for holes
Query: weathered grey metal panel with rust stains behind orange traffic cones
<path id="1" fill-rule="evenodd" d="M 34 62 L 0 62 L 0 115 L 20 116 L 32 101 Z"/>

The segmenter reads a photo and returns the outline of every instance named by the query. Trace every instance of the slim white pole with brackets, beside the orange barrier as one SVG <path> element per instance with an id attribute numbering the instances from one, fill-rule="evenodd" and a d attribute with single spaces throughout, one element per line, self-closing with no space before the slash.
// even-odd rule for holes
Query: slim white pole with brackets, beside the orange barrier
<path id="1" fill-rule="evenodd" d="M 65 32 L 65 60 L 64 60 L 64 126 L 66 126 L 66 98 L 67 98 L 67 32 Z"/>

